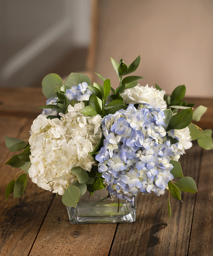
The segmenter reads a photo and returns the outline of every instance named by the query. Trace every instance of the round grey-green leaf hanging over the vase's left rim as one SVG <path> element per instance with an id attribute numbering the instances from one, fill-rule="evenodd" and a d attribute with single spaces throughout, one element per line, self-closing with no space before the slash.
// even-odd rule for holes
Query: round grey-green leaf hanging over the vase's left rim
<path id="1" fill-rule="evenodd" d="M 76 207 L 80 195 L 80 189 L 76 186 L 70 186 L 62 196 L 62 203 L 66 206 Z"/>

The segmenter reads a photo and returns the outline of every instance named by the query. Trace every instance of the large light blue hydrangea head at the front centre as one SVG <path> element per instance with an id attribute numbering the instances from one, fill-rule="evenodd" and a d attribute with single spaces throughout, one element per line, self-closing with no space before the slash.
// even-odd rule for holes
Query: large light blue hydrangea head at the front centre
<path id="1" fill-rule="evenodd" d="M 163 195 L 175 156 L 164 129 L 164 111 L 145 105 L 109 114 L 102 120 L 104 147 L 96 160 L 111 195 L 131 201 L 138 192 Z"/>

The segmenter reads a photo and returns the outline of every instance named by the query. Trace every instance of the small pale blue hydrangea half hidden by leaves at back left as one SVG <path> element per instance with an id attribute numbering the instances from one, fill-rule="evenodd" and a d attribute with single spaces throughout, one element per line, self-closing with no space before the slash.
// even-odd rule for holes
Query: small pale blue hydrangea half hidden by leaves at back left
<path id="1" fill-rule="evenodd" d="M 92 92 L 87 89 L 88 84 L 86 82 L 79 83 L 78 86 L 73 85 L 71 89 L 67 89 L 65 96 L 68 100 L 77 100 L 77 101 L 83 101 L 83 100 L 89 100 L 90 95 Z M 59 100 L 58 97 L 50 98 L 46 101 L 47 105 L 53 104 L 56 105 L 56 101 Z M 58 114 L 58 111 L 56 109 L 49 109 L 45 108 L 42 111 L 42 114 L 48 114 L 55 116 Z"/>

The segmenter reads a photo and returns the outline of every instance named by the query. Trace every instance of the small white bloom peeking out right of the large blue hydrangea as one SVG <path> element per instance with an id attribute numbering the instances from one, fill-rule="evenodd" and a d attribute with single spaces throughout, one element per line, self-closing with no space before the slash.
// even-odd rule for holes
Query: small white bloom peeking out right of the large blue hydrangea
<path id="1" fill-rule="evenodd" d="M 172 160 L 178 161 L 181 155 L 185 154 L 185 150 L 192 147 L 192 139 L 190 136 L 190 130 L 188 127 L 181 130 L 174 130 L 174 136 L 178 138 L 179 142 L 172 145 L 175 157 Z"/>

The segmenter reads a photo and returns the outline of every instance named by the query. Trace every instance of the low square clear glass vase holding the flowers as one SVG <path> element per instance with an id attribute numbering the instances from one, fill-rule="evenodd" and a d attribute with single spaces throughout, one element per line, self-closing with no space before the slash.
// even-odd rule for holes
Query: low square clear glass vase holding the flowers
<path id="1" fill-rule="evenodd" d="M 72 224 L 78 223 L 131 223 L 136 220 L 136 197 L 132 202 L 109 197 L 104 188 L 92 196 L 87 191 L 77 203 L 76 208 L 67 206 Z"/>

